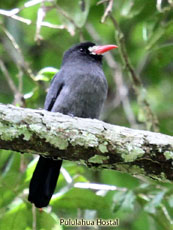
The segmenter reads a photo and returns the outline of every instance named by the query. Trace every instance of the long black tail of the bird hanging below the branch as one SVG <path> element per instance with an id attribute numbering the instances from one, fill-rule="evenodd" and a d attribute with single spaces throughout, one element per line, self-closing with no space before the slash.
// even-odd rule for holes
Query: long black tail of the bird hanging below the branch
<path id="1" fill-rule="evenodd" d="M 51 158 L 40 159 L 33 173 L 28 200 L 34 203 L 37 208 L 46 207 L 56 187 L 62 160 Z"/>

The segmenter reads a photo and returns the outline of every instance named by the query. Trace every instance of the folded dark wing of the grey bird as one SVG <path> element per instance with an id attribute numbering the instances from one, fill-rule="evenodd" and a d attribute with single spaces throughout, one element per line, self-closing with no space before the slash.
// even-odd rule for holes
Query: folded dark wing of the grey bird
<path id="1" fill-rule="evenodd" d="M 58 97 L 58 95 L 60 94 L 62 88 L 64 86 L 64 82 L 63 82 L 63 74 L 61 73 L 61 71 L 59 71 L 54 78 L 51 81 L 46 99 L 45 99 L 45 103 L 44 103 L 44 109 L 51 111 L 52 107 Z"/>

